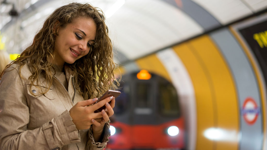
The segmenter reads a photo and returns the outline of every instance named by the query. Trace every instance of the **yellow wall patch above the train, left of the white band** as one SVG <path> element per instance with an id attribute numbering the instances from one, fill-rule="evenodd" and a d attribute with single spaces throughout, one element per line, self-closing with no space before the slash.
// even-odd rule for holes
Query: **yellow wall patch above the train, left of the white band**
<path id="1" fill-rule="evenodd" d="M 156 54 L 141 58 L 136 61 L 136 64 L 140 69 L 146 69 L 151 73 L 158 74 L 159 76 L 162 76 L 163 78 L 171 82 L 171 78 L 168 75 L 167 70 L 162 65 Z"/>

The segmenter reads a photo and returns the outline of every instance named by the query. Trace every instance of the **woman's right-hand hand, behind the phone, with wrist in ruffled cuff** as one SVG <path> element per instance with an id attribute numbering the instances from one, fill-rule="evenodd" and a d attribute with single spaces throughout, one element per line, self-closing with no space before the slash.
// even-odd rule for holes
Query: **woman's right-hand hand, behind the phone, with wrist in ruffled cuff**
<path id="1" fill-rule="evenodd" d="M 114 114 L 113 108 L 115 106 L 115 98 L 112 98 L 110 105 L 108 102 L 106 102 L 105 105 L 106 105 L 106 111 L 105 110 L 101 111 L 102 118 L 92 119 L 93 122 L 92 131 L 95 141 L 99 141 L 105 123 L 108 122 L 109 117 Z"/>

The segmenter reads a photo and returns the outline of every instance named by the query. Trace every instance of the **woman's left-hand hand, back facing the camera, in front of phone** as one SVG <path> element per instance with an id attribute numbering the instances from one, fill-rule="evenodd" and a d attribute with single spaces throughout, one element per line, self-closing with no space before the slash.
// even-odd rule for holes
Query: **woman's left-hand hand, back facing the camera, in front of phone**
<path id="1" fill-rule="evenodd" d="M 100 102 L 98 102 L 92 106 L 88 106 L 88 105 L 95 103 L 97 98 L 77 102 L 69 110 L 69 114 L 72 118 L 72 122 L 76 125 L 76 128 L 78 130 L 90 128 L 90 126 L 92 124 L 92 119 L 97 119 L 97 118 L 103 117 L 102 112 L 94 113 L 94 111 L 99 109 L 100 107 L 104 106 L 106 103 L 108 103 L 112 99 L 113 99 L 113 96 L 112 96 L 112 98 L 107 97 L 107 98 L 103 99 L 102 101 L 100 101 Z M 113 103 L 115 104 L 115 100 Z M 109 108 L 109 110 L 110 110 L 110 108 Z M 113 112 L 113 110 L 112 110 L 112 112 Z M 111 113 L 111 111 L 110 111 L 110 113 Z M 113 113 L 112 113 L 112 115 L 113 115 Z M 106 116 L 105 116 L 105 120 L 107 120 Z M 102 131 L 103 131 L 103 127 L 102 127 Z"/>

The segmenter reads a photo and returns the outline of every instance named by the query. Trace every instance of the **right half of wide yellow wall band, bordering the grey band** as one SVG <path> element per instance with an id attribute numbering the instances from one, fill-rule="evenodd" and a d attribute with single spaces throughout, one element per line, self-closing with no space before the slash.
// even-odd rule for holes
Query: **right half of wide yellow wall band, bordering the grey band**
<path id="1" fill-rule="evenodd" d="M 216 149 L 236 150 L 238 149 L 239 111 L 237 92 L 230 70 L 209 36 L 198 37 L 189 43 L 205 64 L 214 88 L 212 91 L 215 96 L 214 114 L 217 118 L 215 127 L 232 133 L 228 135 L 228 139 L 216 141 Z"/>

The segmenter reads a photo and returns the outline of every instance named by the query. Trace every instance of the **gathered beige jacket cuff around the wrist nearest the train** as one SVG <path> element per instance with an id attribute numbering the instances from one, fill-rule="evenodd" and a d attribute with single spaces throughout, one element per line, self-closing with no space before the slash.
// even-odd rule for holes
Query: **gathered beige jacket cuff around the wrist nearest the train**
<path id="1" fill-rule="evenodd" d="M 101 150 L 104 149 L 107 146 L 107 142 L 109 141 L 108 137 L 110 137 L 110 130 L 109 130 L 109 123 L 106 123 L 104 126 L 104 130 L 103 130 L 103 139 L 102 142 L 95 142 L 95 139 L 93 137 L 93 133 L 92 133 L 92 126 L 88 131 L 88 141 L 86 143 L 86 148 L 87 150 Z"/>

